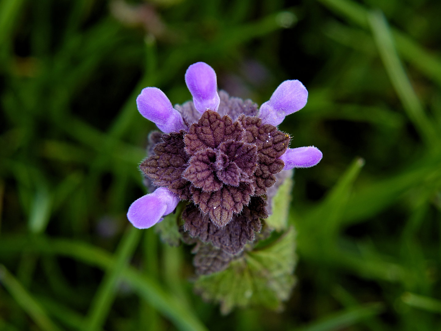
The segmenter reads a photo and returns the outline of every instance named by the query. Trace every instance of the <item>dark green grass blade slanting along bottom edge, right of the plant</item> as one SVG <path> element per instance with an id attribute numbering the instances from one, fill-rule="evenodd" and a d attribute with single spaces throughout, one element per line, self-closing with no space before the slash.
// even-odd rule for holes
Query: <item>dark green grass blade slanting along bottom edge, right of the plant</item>
<path id="1" fill-rule="evenodd" d="M 310 324 L 307 327 L 295 329 L 293 331 L 332 331 L 341 330 L 358 323 L 361 320 L 368 319 L 380 314 L 384 310 L 381 303 L 373 303 L 358 308 L 349 308 L 342 312 L 337 312 L 331 316 L 325 317 Z"/>

